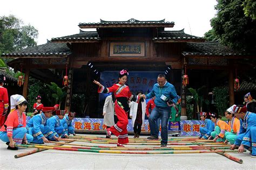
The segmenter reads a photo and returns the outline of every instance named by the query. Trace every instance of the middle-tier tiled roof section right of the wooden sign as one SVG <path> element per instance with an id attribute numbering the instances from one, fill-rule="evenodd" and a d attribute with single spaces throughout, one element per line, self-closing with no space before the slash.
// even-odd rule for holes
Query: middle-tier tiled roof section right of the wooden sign
<path id="1" fill-rule="evenodd" d="M 204 42 L 204 38 L 192 36 L 190 34 L 186 34 L 183 30 L 180 31 L 161 31 L 158 33 L 158 37 L 154 37 L 153 41 L 156 42 L 166 42 L 166 41 L 184 41 L 184 42 Z"/>

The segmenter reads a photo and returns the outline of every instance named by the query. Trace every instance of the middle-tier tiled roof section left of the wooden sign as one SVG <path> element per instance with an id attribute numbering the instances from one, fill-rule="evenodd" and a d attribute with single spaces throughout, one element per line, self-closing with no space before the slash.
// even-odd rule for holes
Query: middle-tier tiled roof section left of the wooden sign
<path id="1" fill-rule="evenodd" d="M 79 34 L 73 34 L 65 37 L 52 38 L 51 42 L 97 42 L 100 38 L 98 38 L 97 31 L 82 31 L 80 30 Z"/>

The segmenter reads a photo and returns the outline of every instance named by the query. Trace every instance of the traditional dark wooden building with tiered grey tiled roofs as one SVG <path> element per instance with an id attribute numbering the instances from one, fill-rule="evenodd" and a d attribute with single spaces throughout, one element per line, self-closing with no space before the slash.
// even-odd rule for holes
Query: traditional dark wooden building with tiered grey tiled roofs
<path id="1" fill-rule="evenodd" d="M 186 87 L 181 77 L 185 72 L 190 80 L 188 86 L 193 88 L 206 85 L 211 91 L 218 81 L 227 81 L 232 105 L 234 68 L 248 68 L 238 64 L 239 61 L 255 57 L 235 52 L 218 42 L 206 42 L 204 38 L 186 34 L 184 30 L 166 31 L 165 28 L 174 27 L 174 22 L 165 20 L 100 20 L 99 23 L 79 23 L 78 26 L 78 34 L 52 38 L 46 44 L 2 54 L 2 57 L 15 58 L 8 65 L 16 70 L 25 70 L 25 97 L 29 76 L 62 86 L 65 69 L 68 68 L 65 106 L 78 112 L 80 117 L 97 118 L 102 114 L 93 79 L 99 80 L 104 71 L 124 68 L 130 72 L 166 73 L 167 80 L 174 84 L 182 97 L 183 118 L 186 118 Z M 92 28 L 96 31 L 85 31 Z"/>

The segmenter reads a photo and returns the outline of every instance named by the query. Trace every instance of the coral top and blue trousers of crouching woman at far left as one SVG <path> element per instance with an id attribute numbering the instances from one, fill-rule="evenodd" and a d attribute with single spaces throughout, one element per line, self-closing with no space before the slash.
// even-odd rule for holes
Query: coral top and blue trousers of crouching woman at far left
<path id="1" fill-rule="evenodd" d="M 23 112 L 21 116 L 18 110 L 10 112 L 4 125 L 0 129 L 0 139 L 4 142 L 8 142 L 8 137 L 12 137 L 16 144 L 21 144 L 25 135 L 26 140 L 30 143 L 33 137 L 26 133 L 26 115 Z"/>

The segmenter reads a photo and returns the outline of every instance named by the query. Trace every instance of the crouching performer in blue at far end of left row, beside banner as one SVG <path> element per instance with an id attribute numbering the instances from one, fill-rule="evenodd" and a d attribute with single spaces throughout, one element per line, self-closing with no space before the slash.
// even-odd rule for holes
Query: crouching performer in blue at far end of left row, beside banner
<path id="1" fill-rule="evenodd" d="M 69 112 L 69 114 L 66 114 L 63 119 L 60 120 L 60 124 L 64 128 L 64 134 L 62 134 L 62 137 L 67 137 L 70 134 L 73 134 L 73 136 L 76 136 L 75 128 L 72 126 L 72 120 L 76 116 L 75 112 Z"/>

